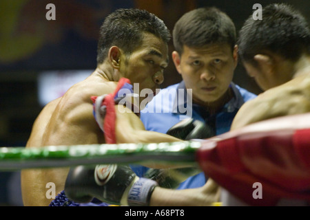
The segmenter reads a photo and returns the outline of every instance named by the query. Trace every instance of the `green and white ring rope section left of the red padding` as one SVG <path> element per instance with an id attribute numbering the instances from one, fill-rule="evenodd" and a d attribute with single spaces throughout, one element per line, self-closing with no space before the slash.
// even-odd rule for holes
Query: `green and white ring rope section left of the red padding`
<path id="1" fill-rule="evenodd" d="M 56 168 L 95 164 L 196 164 L 199 141 L 158 144 L 84 144 L 72 146 L 0 147 L 0 170 Z"/>

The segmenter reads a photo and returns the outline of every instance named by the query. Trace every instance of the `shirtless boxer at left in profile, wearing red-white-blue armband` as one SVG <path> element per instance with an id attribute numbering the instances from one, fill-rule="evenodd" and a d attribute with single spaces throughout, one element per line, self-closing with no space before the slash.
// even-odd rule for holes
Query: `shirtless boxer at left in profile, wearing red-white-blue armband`
<path id="1" fill-rule="evenodd" d="M 50 102 L 34 123 L 27 148 L 48 145 L 104 144 L 103 132 L 93 115 L 91 96 L 112 94 L 120 78 L 156 91 L 168 65 L 170 39 L 163 21 L 143 10 L 117 10 L 105 19 L 98 46 L 97 68 L 61 98 Z M 143 98 L 139 99 L 140 102 Z M 125 107 L 116 109 L 116 142 L 147 143 L 179 141 L 175 137 L 145 131 L 138 116 Z M 125 113 L 124 113 L 125 112 Z M 48 206 L 46 184 L 64 188 L 69 168 L 22 170 L 25 206 Z"/>

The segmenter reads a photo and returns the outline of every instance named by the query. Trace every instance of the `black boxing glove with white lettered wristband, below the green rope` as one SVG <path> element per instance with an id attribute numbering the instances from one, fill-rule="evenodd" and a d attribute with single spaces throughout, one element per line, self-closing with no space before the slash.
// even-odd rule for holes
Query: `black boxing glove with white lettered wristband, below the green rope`
<path id="1" fill-rule="evenodd" d="M 77 166 L 67 176 L 65 195 L 77 203 L 87 203 L 96 197 L 118 206 L 148 206 L 156 186 L 152 179 L 137 177 L 129 166 Z"/>

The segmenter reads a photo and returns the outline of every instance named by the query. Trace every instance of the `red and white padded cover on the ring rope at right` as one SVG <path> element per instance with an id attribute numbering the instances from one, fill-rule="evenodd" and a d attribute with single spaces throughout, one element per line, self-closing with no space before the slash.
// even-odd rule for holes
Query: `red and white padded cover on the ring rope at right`
<path id="1" fill-rule="evenodd" d="M 203 141 L 205 174 L 252 206 L 310 201 L 310 114 L 266 120 Z M 260 183 L 262 198 L 254 197 Z M 256 186 L 256 185 L 255 185 Z"/>

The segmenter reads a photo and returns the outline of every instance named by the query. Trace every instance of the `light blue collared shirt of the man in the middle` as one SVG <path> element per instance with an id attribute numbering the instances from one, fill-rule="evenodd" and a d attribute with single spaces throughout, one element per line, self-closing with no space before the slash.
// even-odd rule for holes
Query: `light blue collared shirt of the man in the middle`
<path id="1" fill-rule="evenodd" d="M 230 130 L 231 123 L 242 104 L 256 97 L 255 94 L 231 83 L 234 97 L 227 102 L 223 109 L 214 115 L 208 115 L 203 107 L 192 103 L 191 90 L 185 89 L 185 83 L 171 85 L 161 91 L 141 111 L 141 120 L 147 131 L 167 133 L 167 131 L 185 118 L 194 118 L 209 124 L 215 135 Z M 132 166 L 138 176 L 142 176 L 147 168 Z M 204 173 L 199 173 L 186 179 L 178 189 L 197 188 L 205 185 Z"/>

